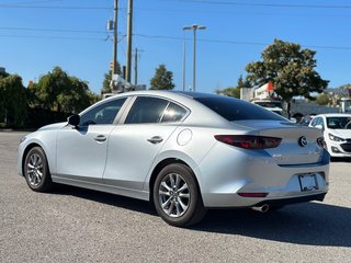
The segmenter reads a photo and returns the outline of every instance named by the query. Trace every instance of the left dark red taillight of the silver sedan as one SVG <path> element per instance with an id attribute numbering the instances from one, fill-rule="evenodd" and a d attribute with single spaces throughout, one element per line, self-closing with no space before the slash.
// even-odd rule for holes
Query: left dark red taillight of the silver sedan
<path id="1" fill-rule="evenodd" d="M 253 135 L 215 135 L 216 140 L 244 149 L 268 149 L 278 147 L 282 139 Z"/>

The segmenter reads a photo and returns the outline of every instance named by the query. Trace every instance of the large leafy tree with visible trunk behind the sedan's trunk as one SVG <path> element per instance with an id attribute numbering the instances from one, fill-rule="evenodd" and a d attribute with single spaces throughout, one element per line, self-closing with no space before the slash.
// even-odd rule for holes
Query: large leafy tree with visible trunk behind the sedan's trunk
<path id="1" fill-rule="evenodd" d="M 246 67 L 247 80 L 252 85 L 263 85 L 272 81 L 274 91 L 290 104 L 293 96 L 303 95 L 312 99 L 310 92 L 322 92 L 328 85 L 320 78 L 316 68 L 316 52 L 303 49 L 301 45 L 274 39 L 261 54 L 261 61 Z"/>

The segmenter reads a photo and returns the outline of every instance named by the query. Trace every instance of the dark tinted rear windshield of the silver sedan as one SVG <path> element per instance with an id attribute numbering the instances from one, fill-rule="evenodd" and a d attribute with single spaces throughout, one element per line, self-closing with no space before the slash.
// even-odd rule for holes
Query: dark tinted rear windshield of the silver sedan
<path id="1" fill-rule="evenodd" d="M 245 119 L 286 121 L 284 117 L 261 106 L 234 98 L 216 96 L 194 99 L 229 122 Z"/>

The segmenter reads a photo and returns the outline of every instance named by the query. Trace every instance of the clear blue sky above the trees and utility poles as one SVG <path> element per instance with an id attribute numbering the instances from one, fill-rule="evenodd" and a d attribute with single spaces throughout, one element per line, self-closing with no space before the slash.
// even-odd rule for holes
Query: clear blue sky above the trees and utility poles
<path id="1" fill-rule="evenodd" d="M 27 85 L 58 66 L 100 93 L 113 56 L 106 30 L 113 5 L 114 0 L 0 0 L 0 67 Z M 328 88 L 351 82 L 350 0 L 134 0 L 133 15 L 139 84 L 149 87 L 165 64 L 174 89 L 182 90 L 185 43 L 185 89 L 192 89 L 193 32 L 182 28 L 193 24 L 206 26 L 197 31 L 196 91 L 235 87 L 274 38 L 316 50 L 316 70 Z M 118 0 L 121 65 L 126 21 L 127 0 Z"/>

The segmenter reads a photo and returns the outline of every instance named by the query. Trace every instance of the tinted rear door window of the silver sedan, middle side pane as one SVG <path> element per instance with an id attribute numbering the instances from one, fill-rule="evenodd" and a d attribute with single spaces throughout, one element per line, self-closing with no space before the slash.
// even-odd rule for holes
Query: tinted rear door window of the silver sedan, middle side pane
<path id="1" fill-rule="evenodd" d="M 168 101 L 158 98 L 139 96 L 134 102 L 125 123 L 159 123 L 168 103 Z"/>

